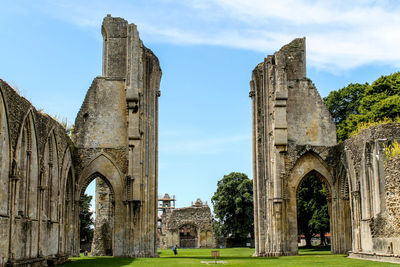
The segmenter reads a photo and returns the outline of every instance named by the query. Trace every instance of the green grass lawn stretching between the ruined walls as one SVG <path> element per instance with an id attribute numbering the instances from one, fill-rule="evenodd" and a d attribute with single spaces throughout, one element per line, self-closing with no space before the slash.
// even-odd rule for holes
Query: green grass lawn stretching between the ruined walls
<path id="1" fill-rule="evenodd" d="M 172 250 L 159 250 L 159 258 L 113 258 L 113 257 L 79 257 L 71 258 L 67 267 L 73 266 L 207 266 L 201 261 L 212 261 L 212 249 L 179 249 L 178 256 Z M 345 255 L 332 255 L 327 249 L 301 249 L 299 256 L 276 258 L 252 257 L 254 249 L 226 248 L 218 249 L 225 261 L 223 266 L 399 266 L 397 264 L 348 259 Z M 211 265 L 211 263 L 210 263 Z M 213 264 L 215 265 L 215 264 Z"/>

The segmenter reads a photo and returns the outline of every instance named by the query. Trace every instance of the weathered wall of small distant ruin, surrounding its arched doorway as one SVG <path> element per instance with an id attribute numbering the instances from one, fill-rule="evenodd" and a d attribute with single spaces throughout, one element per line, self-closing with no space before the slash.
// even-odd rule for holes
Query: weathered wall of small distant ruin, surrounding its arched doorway
<path id="1" fill-rule="evenodd" d="M 162 216 L 160 247 L 172 248 L 180 244 L 180 229 L 185 225 L 194 227 L 197 231 L 196 248 L 215 248 L 216 240 L 213 228 L 211 210 L 207 205 L 186 207 L 166 212 Z"/>

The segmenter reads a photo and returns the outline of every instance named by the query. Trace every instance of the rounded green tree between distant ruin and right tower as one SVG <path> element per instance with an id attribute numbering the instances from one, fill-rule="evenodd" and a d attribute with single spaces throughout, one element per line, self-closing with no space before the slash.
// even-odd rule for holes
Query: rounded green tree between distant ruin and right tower
<path id="1" fill-rule="evenodd" d="M 221 233 L 237 243 L 254 236 L 253 182 L 244 173 L 232 172 L 218 181 L 211 198 Z M 218 225 L 217 224 L 217 225 Z"/>

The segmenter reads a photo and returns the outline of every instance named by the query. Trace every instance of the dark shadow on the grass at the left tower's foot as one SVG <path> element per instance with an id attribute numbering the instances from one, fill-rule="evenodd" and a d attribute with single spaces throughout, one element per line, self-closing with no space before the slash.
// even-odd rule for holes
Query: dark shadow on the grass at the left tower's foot
<path id="1" fill-rule="evenodd" d="M 79 257 L 71 258 L 71 262 L 66 267 L 73 266 L 127 266 L 135 261 L 134 258 L 117 258 L 117 257 Z"/>

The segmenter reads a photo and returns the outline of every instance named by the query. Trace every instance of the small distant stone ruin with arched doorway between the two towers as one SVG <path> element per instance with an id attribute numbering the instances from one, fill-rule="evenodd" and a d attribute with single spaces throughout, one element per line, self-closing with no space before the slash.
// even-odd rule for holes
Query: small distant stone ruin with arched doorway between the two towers
<path id="1" fill-rule="evenodd" d="M 160 248 L 214 248 L 211 210 L 200 199 L 191 206 L 166 210 L 161 215 Z"/>

